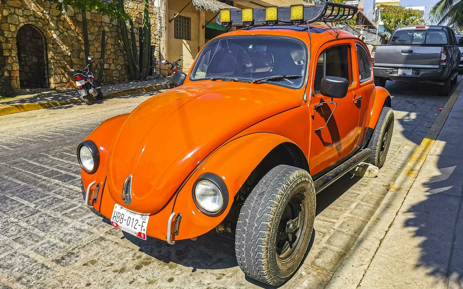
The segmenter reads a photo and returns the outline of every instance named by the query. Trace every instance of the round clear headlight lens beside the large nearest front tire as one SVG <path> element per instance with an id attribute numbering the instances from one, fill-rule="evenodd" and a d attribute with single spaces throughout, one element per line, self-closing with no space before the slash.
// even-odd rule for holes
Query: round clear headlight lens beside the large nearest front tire
<path id="1" fill-rule="evenodd" d="M 202 209 L 211 213 L 218 212 L 224 204 L 219 187 L 209 180 L 201 180 L 196 184 L 194 197 Z"/>

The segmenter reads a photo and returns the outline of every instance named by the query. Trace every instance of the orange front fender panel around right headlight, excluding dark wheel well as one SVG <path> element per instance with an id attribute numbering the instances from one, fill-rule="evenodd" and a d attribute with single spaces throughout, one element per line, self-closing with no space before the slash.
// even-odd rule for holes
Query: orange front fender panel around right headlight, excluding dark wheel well
<path id="1" fill-rule="evenodd" d="M 246 182 L 251 172 L 280 144 L 297 147 L 293 141 L 283 136 L 255 133 L 226 143 L 203 161 L 176 196 L 173 211 L 176 214 L 181 213 L 182 218 L 179 234 L 173 236 L 175 240 L 205 234 L 223 221 L 230 211 L 238 190 Z M 307 164 L 305 157 L 304 160 Z M 193 200 L 193 184 L 201 174 L 206 172 L 218 175 L 225 182 L 228 190 L 226 209 L 217 216 L 208 216 L 200 212 Z"/>

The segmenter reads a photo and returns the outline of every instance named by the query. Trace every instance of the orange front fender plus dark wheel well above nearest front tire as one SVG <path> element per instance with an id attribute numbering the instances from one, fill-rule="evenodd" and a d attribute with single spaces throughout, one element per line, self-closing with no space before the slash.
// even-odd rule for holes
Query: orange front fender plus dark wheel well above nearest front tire
<path id="1" fill-rule="evenodd" d="M 280 164 L 308 170 L 303 151 L 293 141 L 281 135 L 244 135 L 217 149 L 198 166 L 176 196 L 173 211 L 176 214 L 181 213 L 183 221 L 175 240 L 193 238 L 215 228 L 231 214 L 232 205 L 234 208 L 241 205 L 253 185 L 274 165 Z M 193 200 L 193 185 L 205 172 L 218 175 L 227 186 L 229 201 L 226 209 L 217 216 L 200 212 Z"/>

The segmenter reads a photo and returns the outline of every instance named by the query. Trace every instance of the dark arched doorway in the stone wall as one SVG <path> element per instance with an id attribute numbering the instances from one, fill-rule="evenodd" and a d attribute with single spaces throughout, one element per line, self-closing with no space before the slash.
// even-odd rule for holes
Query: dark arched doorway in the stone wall
<path id="1" fill-rule="evenodd" d="M 21 88 L 47 88 L 45 37 L 37 27 L 23 25 L 16 35 Z"/>

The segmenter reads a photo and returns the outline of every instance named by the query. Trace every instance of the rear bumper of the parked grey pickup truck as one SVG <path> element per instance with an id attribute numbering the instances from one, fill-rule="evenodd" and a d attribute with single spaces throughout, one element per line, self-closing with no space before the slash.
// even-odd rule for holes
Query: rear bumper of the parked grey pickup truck
<path id="1" fill-rule="evenodd" d="M 461 66 L 463 68 L 463 64 Z M 450 75 L 450 66 L 442 66 L 438 69 L 412 68 L 412 75 L 398 74 L 399 68 L 373 67 L 375 77 L 384 77 L 397 81 L 425 81 L 436 82 L 444 80 Z"/>

